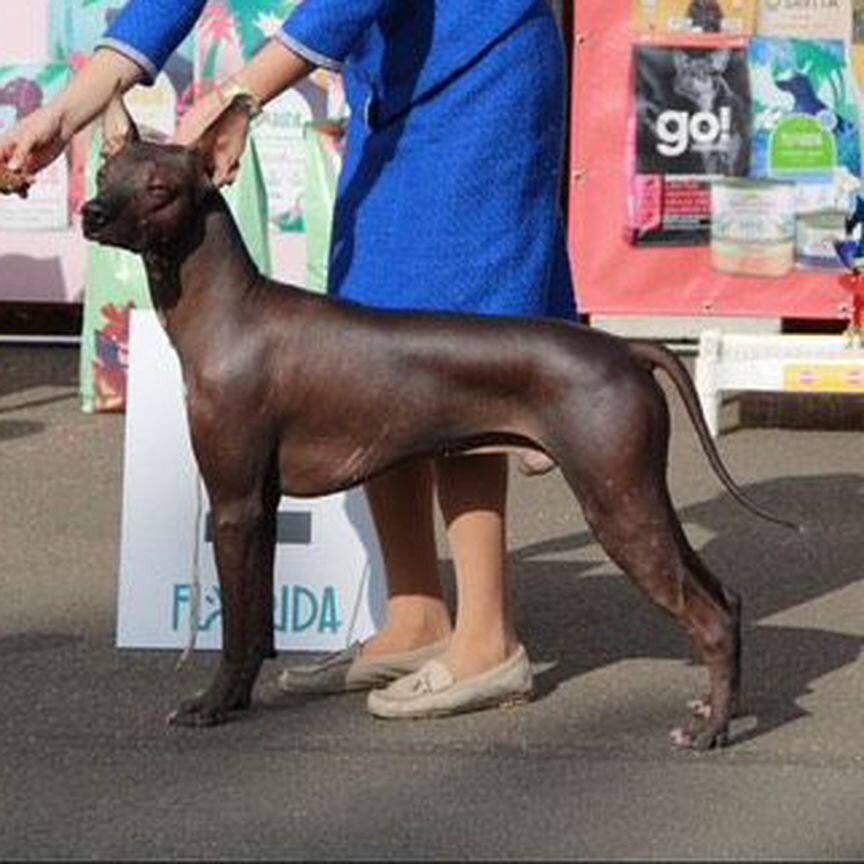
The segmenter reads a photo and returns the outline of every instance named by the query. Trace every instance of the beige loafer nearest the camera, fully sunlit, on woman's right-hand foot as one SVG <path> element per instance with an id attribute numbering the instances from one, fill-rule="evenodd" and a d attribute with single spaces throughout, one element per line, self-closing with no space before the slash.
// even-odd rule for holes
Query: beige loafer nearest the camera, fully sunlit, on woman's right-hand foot
<path id="1" fill-rule="evenodd" d="M 533 686 L 531 663 L 520 645 L 500 666 L 462 681 L 440 660 L 430 660 L 389 687 L 373 690 L 366 706 L 370 714 L 386 720 L 447 717 L 525 702 Z"/>

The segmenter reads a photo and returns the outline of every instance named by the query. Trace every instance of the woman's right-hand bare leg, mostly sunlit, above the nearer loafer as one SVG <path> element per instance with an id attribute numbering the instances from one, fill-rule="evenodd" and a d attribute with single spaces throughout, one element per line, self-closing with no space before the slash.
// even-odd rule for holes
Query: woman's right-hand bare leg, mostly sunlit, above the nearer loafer
<path id="1" fill-rule="evenodd" d="M 451 457 L 436 467 L 458 590 L 456 629 L 441 660 L 458 680 L 500 665 L 518 645 L 506 579 L 507 457 Z"/>

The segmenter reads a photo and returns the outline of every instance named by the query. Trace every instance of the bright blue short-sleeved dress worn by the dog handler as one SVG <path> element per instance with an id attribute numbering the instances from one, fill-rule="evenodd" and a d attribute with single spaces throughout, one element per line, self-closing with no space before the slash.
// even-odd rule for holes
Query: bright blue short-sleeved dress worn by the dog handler
<path id="1" fill-rule="evenodd" d="M 152 76 L 204 0 L 132 0 L 100 44 Z M 546 0 L 305 0 L 280 38 L 345 79 L 331 292 L 575 316 L 560 211 L 565 61 Z"/>

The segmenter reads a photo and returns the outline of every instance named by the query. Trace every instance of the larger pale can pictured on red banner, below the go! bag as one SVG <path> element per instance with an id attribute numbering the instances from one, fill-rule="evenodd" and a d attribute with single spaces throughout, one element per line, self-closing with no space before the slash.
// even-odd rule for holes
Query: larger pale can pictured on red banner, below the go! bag
<path id="1" fill-rule="evenodd" d="M 795 185 L 773 180 L 711 184 L 711 263 L 747 276 L 784 276 L 795 261 Z"/>

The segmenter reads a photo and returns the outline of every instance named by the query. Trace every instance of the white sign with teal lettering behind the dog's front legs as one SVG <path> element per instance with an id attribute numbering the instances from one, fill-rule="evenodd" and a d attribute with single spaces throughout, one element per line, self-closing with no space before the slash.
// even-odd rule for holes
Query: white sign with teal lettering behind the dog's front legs
<path id="1" fill-rule="evenodd" d="M 117 645 L 182 648 L 190 640 L 196 572 L 196 644 L 221 645 L 218 579 L 207 496 L 189 442 L 177 356 L 156 314 L 132 313 Z M 276 553 L 280 650 L 336 650 L 379 629 L 384 567 L 359 489 L 283 498 Z"/>

